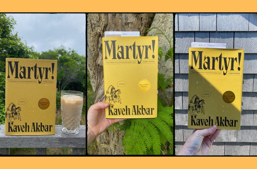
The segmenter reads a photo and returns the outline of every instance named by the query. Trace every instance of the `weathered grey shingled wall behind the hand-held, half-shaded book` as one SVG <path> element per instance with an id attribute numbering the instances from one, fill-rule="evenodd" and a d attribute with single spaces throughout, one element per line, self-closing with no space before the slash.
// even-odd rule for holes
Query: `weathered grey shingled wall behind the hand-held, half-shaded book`
<path id="1" fill-rule="evenodd" d="M 257 14 L 175 15 L 175 154 L 192 133 L 187 128 L 188 50 L 191 42 L 226 43 L 245 49 L 241 130 L 222 130 L 208 155 L 257 155 Z"/>

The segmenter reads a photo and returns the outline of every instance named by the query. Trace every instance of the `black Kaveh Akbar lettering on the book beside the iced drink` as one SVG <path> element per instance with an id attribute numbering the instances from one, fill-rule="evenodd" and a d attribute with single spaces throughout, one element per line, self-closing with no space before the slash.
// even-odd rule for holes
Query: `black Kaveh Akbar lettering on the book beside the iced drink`
<path id="1" fill-rule="evenodd" d="M 51 132 L 53 125 L 44 125 L 42 123 L 31 123 L 28 125 L 14 125 L 13 123 L 8 123 L 8 132 Z"/>

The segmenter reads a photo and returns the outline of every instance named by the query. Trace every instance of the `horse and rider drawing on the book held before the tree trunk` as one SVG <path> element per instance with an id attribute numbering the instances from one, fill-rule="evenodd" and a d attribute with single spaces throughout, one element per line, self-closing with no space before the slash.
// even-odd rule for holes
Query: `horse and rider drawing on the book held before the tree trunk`
<path id="1" fill-rule="evenodd" d="M 114 103 L 121 104 L 121 99 L 119 94 L 121 94 L 120 90 L 119 89 L 116 90 L 113 85 L 110 85 L 105 94 L 105 102 L 110 103 L 110 106 L 113 106 Z"/>

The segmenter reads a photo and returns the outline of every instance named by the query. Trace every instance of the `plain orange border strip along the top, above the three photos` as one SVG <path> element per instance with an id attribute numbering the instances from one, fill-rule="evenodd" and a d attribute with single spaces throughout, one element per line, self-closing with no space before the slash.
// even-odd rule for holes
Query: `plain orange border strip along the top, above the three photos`
<path id="1" fill-rule="evenodd" d="M 2 1 L 0 12 L 256 12 L 255 4 L 254 0 L 13 0 Z"/>

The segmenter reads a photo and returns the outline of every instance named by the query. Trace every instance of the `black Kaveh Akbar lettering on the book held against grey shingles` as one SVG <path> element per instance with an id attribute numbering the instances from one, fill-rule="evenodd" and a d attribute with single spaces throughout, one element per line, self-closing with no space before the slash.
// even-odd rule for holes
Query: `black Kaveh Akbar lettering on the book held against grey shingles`
<path id="1" fill-rule="evenodd" d="M 213 124 L 216 124 L 217 126 L 236 127 L 238 120 L 216 116 L 215 123 L 213 122 L 211 116 L 208 116 L 207 119 L 198 119 L 196 116 L 191 115 L 191 126 L 213 126 Z"/>

